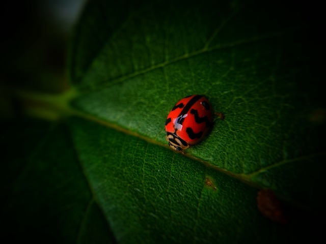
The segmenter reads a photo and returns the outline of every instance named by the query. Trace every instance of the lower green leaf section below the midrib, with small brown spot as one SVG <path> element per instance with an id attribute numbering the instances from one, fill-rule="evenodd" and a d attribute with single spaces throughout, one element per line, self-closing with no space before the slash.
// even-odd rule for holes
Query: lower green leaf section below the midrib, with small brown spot
<path id="1" fill-rule="evenodd" d="M 159 145 L 79 119 L 71 131 L 119 243 L 261 243 L 308 228 L 271 224 L 257 210 L 257 189 Z"/>

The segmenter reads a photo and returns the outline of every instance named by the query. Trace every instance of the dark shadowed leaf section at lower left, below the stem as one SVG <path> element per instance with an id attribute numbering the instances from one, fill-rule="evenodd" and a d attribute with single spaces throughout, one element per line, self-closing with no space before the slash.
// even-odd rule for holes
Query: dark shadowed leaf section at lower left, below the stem
<path id="1" fill-rule="evenodd" d="M 2 127 L 7 128 L 2 146 L 7 152 L 1 180 L 6 193 L 1 199 L 2 235 L 13 243 L 110 243 L 110 228 L 87 185 L 68 130 L 39 120 L 6 121 Z"/>

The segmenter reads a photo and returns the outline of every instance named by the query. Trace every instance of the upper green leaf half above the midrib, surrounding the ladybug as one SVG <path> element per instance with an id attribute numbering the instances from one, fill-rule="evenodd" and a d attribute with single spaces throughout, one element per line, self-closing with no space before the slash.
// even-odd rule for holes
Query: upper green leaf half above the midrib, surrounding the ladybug
<path id="1" fill-rule="evenodd" d="M 163 124 L 173 105 L 206 95 L 225 120 L 215 120 L 208 138 L 187 150 L 189 157 L 323 211 L 323 196 L 311 192 L 322 184 L 302 180 L 309 172 L 322 181 L 325 141 L 319 135 L 325 130 L 313 119 L 324 111 L 313 86 L 320 78 L 311 80 L 311 43 L 297 41 L 306 32 L 304 19 L 295 11 L 288 15 L 288 8 L 144 4 L 101 46 L 78 80 L 84 93 L 73 106 L 166 145 Z M 96 18 L 94 12 L 84 18 L 89 15 Z"/>

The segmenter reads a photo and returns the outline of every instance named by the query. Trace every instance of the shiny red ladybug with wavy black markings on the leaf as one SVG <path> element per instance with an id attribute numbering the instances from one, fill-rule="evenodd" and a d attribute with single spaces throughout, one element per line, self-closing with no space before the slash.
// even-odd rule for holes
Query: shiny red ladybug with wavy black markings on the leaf
<path id="1" fill-rule="evenodd" d="M 221 113 L 216 113 L 221 116 Z M 166 139 L 176 151 L 185 150 L 205 138 L 213 124 L 213 111 L 206 97 L 192 95 L 171 109 L 165 122 Z"/>

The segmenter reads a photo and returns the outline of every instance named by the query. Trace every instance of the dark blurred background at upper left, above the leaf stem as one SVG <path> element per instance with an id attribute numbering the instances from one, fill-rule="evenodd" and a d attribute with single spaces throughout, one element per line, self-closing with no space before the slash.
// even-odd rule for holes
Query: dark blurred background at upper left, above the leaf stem
<path id="1" fill-rule="evenodd" d="M 13 112 L 5 99 L 9 96 L 5 89 L 22 87 L 58 93 L 67 88 L 67 44 L 85 2 L 33 0 L 1 4 L 2 116 Z"/>

